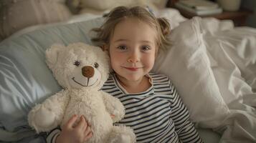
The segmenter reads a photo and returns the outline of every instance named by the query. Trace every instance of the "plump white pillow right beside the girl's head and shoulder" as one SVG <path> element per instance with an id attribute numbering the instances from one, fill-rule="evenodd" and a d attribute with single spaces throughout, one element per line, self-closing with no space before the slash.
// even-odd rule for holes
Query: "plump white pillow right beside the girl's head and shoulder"
<path id="1" fill-rule="evenodd" d="M 219 92 L 202 39 L 199 21 L 182 22 L 169 37 L 172 46 L 162 52 L 153 70 L 166 74 L 188 107 L 192 122 L 217 127 L 229 113 Z"/>

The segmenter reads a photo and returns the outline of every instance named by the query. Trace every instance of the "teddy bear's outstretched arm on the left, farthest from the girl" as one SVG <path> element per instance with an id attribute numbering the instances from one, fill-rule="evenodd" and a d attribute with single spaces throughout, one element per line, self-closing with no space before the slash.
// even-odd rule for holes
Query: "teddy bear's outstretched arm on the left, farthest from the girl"
<path id="1" fill-rule="evenodd" d="M 29 112 L 29 125 L 38 132 L 49 132 L 62 122 L 70 96 L 62 90 L 37 104 Z"/>

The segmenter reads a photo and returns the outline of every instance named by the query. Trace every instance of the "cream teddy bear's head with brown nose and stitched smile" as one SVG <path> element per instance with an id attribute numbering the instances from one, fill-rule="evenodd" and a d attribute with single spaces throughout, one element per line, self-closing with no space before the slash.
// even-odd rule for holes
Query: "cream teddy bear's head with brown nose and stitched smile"
<path id="1" fill-rule="evenodd" d="M 46 51 L 47 65 L 65 89 L 100 89 L 108 79 L 108 54 L 83 43 L 54 44 Z"/>

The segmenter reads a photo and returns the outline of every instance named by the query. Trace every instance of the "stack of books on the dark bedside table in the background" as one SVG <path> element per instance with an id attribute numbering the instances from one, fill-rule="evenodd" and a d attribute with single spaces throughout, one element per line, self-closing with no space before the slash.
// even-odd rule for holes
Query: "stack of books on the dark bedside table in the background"
<path id="1" fill-rule="evenodd" d="M 222 8 L 217 3 L 207 0 L 179 0 L 175 6 L 198 16 L 222 13 Z"/>

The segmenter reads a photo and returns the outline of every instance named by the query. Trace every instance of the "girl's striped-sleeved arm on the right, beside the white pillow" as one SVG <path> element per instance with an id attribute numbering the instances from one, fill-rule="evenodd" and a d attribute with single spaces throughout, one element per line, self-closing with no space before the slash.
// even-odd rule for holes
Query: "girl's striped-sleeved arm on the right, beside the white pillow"
<path id="1" fill-rule="evenodd" d="M 171 104 L 171 119 L 174 120 L 175 130 L 179 136 L 179 139 L 184 143 L 203 142 L 201 137 L 199 137 L 194 124 L 189 119 L 189 110 L 182 102 L 181 97 L 179 97 L 179 94 L 174 86 L 170 84 L 170 87 L 174 98 Z"/>

